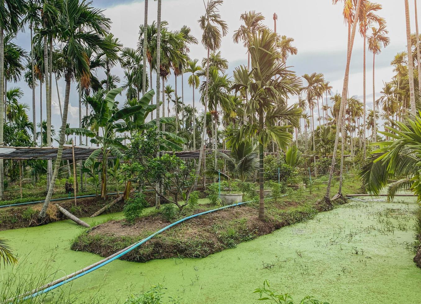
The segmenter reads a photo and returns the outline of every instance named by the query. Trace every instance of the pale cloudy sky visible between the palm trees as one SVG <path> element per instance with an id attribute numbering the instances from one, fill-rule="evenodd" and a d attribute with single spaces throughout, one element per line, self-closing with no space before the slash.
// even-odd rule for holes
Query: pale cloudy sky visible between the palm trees
<path id="1" fill-rule="evenodd" d="M 405 8 L 401 0 L 378 0 L 383 5 L 383 9 L 378 14 L 387 21 L 389 30 L 390 45 L 376 56 L 376 96 L 383 87 L 383 82 L 389 81 L 393 75 L 390 61 L 393 56 L 406 49 L 405 32 Z M 411 30 L 415 32 L 415 19 L 413 14 L 413 0 L 410 0 Z M 118 37 L 125 47 L 136 47 L 138 40 L 139 25 L 144 20 L 144 1 L 138 0 L 93 0 L 96 8 L 104 9 L 104 13 L 112 21 L 112 33 Z M 240 26 L 240 14 L 245 11 L 255 10 L 261 12 L 266 20 L 264 23 L 273 29 L 273 13 L 277 13 L 277 32 L 285 34 L 295 39 L 294 45 L 298 48 L 296 56 L 288 58 L 288 65 L 293 66 L 292 70 L 298 75 L 305 73 L 323 73 L 325 79 L 330 81 L 334 93 L 341 93 L 346 64 L 346 40 L 347 28 L 344 25 L 342 7 L 332 5 L 331 0 L 224 0 L 221 7 L 221 17 L 229 26 L 229 33 L 222 40 L 221 53 L 229 61 L 229 70 L 240 65 L 247 64 L 245 48 L 241 44 L 232 42 L 232 34 Z M 201 31 L 197 20 L 204 12 L 202 0 L 163 0 L 162 20 L 168 21 L 169 29 L 180 29 L 187 25 L 192 29 L 192 34 L 200 41 Z M 149 0 L 149 23 L 156 20 L 157 2 Z M 29 31 L 19 33 L 16 43 L 29 49 Z M 362 100 L 362 49 L 363 41 L 359 34 L 354 41 L 352 52 L 349 94 L 357 95 Z M 190 57 L 198 58 L 200 61 L 206 56 L 206 51 L 202 45 L 192 45 L 190 47 Z M 367 106 L 373 106 L 372 92 L 372 66 L 373 55 L 367 53 Z M 120 76 L 122 84 L 124 82 L 123 71 L 120 67 L 112 69 L 113 74 Z M 103 73 L 98 74 L 104 77 Z M 184 100 L 191 103 L 192 92 L 187 85 L 187 77 L 184 79 Z M 154 80 L 155 83 L 155 80 Z M 169 83 L 173 85 L 174 79 Z M 181 79 L 178 82 L 181 91 Z M 32 105 L 32 91 L 24 82 L 15 84 L 24 89 L 25 96 L 23 102 Z M 53 83 L 55 85 L 55 83 Z M 13 85 L 8 84 L 8 87 Z M 68 122 L 71 126 L 78 125 L 77 92 L 76 85 L 72 85 L 72 94 L 69 105 Z M 52 123 L 55 129 L 59 129 L 60 115 L 58 108 L 57 92 L 53 90 L 53 116 Z M 59 94 L 61 100 L 64 98 L 64 82 L 59 81 Z M 179 93 L 180 94 L 180 93 Z M 43 93 L 45 96 L 45 94 Z M 181 94 L 180 94 L 181 95 Z M 39 89 L 37 88 L 37 105 L 39 105 Z M 123 96 L 118 97 L 123 102 Z M 45 115 L 45 100 L 43 101 L 43 113 Z M 201 105 L 200 105 L 201 106 Z M 200 113 L 201 108 L 198 107 Z M 37 106 L 37 119 L 39 119 L 39 106 Z M 83 108 L 83 113 L 85 109 Z M 32 117 L 32 115 L 30 115 Z M 45 119 L 45 116 L 44 116 Z"/>

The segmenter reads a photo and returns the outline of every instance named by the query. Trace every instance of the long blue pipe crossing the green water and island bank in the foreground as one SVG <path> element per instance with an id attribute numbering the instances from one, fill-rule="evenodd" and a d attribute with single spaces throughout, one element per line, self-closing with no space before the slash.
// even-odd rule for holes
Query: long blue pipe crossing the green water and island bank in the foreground
<path id="1" fill-rule="evenodd" d="M 287 195 L 288 194 L 285 194 L 283 196 L 287 196 Z M 269 199 L 269 198 L 264 198 L 264 199 Z M 86 270 L 84 272 L 81 272 L 81 273 L 79 273 L 79 274 L 77 274 L 77 275 L 75 275 L 75 276 L 73 276 L 71 278 L 68 278 L 67 280 L 63 280 L 60 283 L 54 284 L 54 285 L 49 286 L 48 288 L 44 288 L 44 289 L 42 289 L 40 291 L 36 291 L 36 292 L 34 292 L 34 293 L 32 293 L 32 294 L 30 294 L 28 296 L 25 296 L 23 299 L 24 300 L 27 300 L 27 299 L 30 299 L 30 298 L 35 298 L 36 296 L 39 296 L 39 295 L 41 295 L 43 293 L 47 293 L 48 291 L 51 291 L 51 290 L 53 290 L 53 289 L 55 289 L 57 287 L 60 287 L 60 286 L 62 286 L 64 284 L 66 284 L 66 283 L 69 283 L 72 280 L 76 280 L 77 278 L 80 278 L 80 277 L 82 277 L 84 275 L 87 275 L 88 273 L 93 272 L 94 270 L 97 270 L 98 268 L 101 268 L 101 267 L 107 265 L 108 263 L 111 263 L 112 261 L 115 261 L 116 259 L 120 258 L 121 256 L 129 253 L 133 249 L 141 246 L 142 244 L 146 243 L 151 238 L 153 238 L 155 235 L 158 235 L 158 234 L 164 232 L 165 230 L 167 230 L 167 229 L 169 229 L 169 228 L 171 228 L 171 227 L 173 227 L 173 226 L 175 226 L 175 225 L 177 225 L 177 224 L 179 224 L 181 222 L 186 221 L 187 219 L 192 219 L 194 217 L 198 217 L 198 216 L 203 215 L 203 214 L 208 214 L 208 213 L 211 213 L 211 212 L 215 212 L 215 211 L 226 209 L 226 208 L 230 208 L 230 207 L 240 206 L 240 205 L 251 203 L 251 202 L 253 202 L 253 201 L 245 201 L 245 202 L 241 202 L 241 203 L 237 203 L 237 204 L 223 206 L 223 207 L 220 207 L 220 208 L 217 208 L 217 209 L 212 209 L 212 210 L 200 212 L 200 213 L 197 213 L 197 214 L 190 215 L 189 217 L 184 217 L 183 219 L 180 219 L 177 222 L 173 222 L 172 224 L 170 224 L 170 225 L 162 228 L 161 230 L 158 230 L 157 232 L 149 235 L 147 238 L 144 238 L 143 240 L 141 240 L 141 241 L 139 241 L 137 243 L 134 243 L 132 246 L 128 247 L 125 251 L 121 252 L 120 254 L 117 254 L 116 256 L 113 256 L 111 259 L 107 259 L 106 261 L 102 262 L 101 264 L 98 264 L 95 267 L 92 267 L 92 268 L 90 268 L 90 269 L 88 269 L 88 270 Z M 75 273 L 77 273 L 77 272 L 75 272 Z"/>

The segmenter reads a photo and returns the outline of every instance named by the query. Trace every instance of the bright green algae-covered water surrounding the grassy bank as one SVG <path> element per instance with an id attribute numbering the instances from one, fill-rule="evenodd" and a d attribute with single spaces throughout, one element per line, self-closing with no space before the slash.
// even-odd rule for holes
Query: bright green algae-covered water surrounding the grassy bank
<path id="1" fill-rule="evenodd" d="M 54 302 L 54 295 L 71 292 L 75 303 L 93 298 L 124 303 L 131 293 L 161 283 L 165 296 L 178 296 L 181 303 L 261 303 L 253 291 L 268 280 L 273 290 L 296 301 L 311 295 L 330 303 L 420 303 L 421 269 L 411 251 L 417 207 L 415 198 L 349 201 L 203 259 L 117 260 L 50 292 L 45 300 Z M 83 220 L 92 224 L 107 217 Z M 69 249 L 80 231 L 66 220 L 2 231 L 0 237 L 11 240 L 21 269 L 43 269 L 49 262 L 59 278 L 101 259 Z M 1 267 L 2 280 L 10 269 Z"/>

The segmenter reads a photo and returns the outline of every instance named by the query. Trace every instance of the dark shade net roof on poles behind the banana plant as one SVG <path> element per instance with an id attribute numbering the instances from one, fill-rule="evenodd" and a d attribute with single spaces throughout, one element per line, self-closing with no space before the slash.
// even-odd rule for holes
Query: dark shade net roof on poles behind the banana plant
<path id="1" fill-rule="evenodd" d="M 73 150 L 75 153 L 75 159 L 88 159 L 91 153 L 99 149 L 98 147 L 87 147 L 80 145 L 64 145 L 62 160 L 72 160 Z M 58 147 L 5 147 L 0 146 L 0 159 L 56 159 Z M 228 153 L 228 150 L 217 150 L 222 153 Z M 174 152 L 176 156 L 181 159 L 198 159 L 200 150 L 195 151 L 180 151 Z M 206 149 L 206 154 L 214 153 L 214 150 Z M 109 154 L 109 159 L 114 159 L 115 156 Z"/>

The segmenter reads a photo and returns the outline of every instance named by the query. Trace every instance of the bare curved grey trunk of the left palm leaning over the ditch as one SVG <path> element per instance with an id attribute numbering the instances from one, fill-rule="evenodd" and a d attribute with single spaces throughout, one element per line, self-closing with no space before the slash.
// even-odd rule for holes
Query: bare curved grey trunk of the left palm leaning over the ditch
<path id="1" fill-rule="evenodd" d="M 64 139 L 66 135 L 67 110 L 69 109 L 69 95 L 70 95 L 70 82 L 71 82 L 70 75 L 72 75 L 72 66 L 67 67 L 66 90 L 65 90 L 65 95 L 64 95 L 63 118 L 61 119 L 59 149 L 57 151 L 57 159 L 56 159 L 56 163 L 54 164 L 54 172 L 53 172 L 53 176 L 51 177 L 50 187 L 48 188 L 48 192 L 47 192 L 47 196 L 45 197 L 43 208 L 40 211 L 41 218 L 45 217 L 48 205 L 50 204 L 51 196 L 53 195 L 54 185 L 56 184 L 57 174 L 59 173 L 61 155 L 63 154 L 63 145 L 64 145 Z"/>

